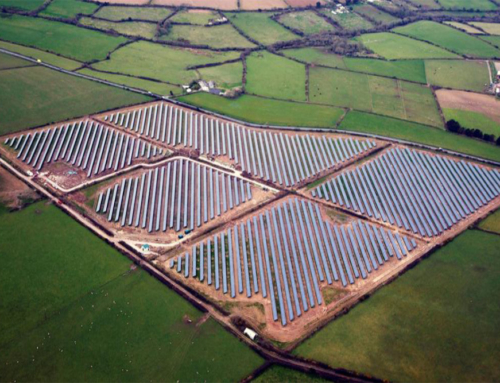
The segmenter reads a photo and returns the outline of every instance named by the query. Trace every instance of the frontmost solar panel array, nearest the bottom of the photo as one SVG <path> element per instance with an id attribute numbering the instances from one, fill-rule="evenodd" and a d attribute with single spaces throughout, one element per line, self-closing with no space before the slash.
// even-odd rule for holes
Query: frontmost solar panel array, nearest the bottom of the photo
<path id="1" fill-rule="evenodd" d="M 288 321 L 323 304 L 321 283 L 354 284 L 417 247 L 414 239 L 356 220 L 333 225 L 317 204 L 290 199 L 171 260 L 186 278 L 236 298 L 269 297 L 273 319 Z"/>

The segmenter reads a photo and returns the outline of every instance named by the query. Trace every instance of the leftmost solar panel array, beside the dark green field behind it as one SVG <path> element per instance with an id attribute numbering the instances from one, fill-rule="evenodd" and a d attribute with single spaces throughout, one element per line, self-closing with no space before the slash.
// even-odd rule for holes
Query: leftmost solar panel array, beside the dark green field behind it
<path id="1" fill-rule="evenodd" d="M 88 177 L 110 169 L 117 171 L 135 159 L 150 159 L 163 152 L 144 140 L 89 120 L 21 134 L 5 144 L 36 170 L 51 162 L 65 161 L 87 170 Z"/>

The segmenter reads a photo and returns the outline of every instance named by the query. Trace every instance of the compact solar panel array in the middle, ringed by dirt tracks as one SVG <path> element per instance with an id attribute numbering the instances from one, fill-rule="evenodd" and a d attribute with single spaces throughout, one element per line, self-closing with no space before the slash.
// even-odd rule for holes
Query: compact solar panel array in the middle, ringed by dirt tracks
<path id="1" fill-rule="evenodd" d="M 252 199 L 250 184 L 208 166 L 176 159 L 99 194 L 96 212 L 148 232 L 194 229 Z"/>

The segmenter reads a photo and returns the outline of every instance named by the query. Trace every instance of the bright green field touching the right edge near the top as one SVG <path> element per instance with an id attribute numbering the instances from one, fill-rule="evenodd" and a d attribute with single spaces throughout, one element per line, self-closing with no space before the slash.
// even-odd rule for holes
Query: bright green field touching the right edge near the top
<path id="1" fill-rule="evenodd" d="M 394 31 L 419 40 L 425 40 L 440 47 L 449 49 L 461 55 L 479 58 L 500 57 L 500 50 L 456 30 L 447 25 L 433 21 L 418 21 L 404 27 L 394 28 Z"/>

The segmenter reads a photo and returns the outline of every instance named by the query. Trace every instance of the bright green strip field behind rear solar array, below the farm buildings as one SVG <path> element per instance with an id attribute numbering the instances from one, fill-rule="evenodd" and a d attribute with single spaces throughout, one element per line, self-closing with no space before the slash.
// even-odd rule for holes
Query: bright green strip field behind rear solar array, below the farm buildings
<path id="1" fill-rule="evenodd" d="M 335 127 L 344 111 L 330 106 L 268 100 L 243 95 L 227 99 L 208 93 L 196 93 L 179 99 L 187 104 L 212 110 L 242 121 L 262 125 Z"/>

